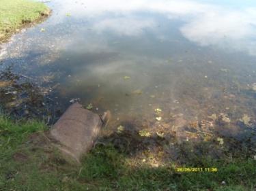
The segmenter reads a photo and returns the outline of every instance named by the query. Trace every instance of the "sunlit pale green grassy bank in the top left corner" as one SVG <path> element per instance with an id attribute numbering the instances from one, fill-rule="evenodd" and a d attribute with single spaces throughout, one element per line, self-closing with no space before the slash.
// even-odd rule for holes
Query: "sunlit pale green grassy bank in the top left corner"
<path id="1" fill-rule="evenodd" d="M 40 20 L 50 10 L 43 3 L 31 0 L 0 1 L 0 40 L 12 35 L 25 24 Z"/>

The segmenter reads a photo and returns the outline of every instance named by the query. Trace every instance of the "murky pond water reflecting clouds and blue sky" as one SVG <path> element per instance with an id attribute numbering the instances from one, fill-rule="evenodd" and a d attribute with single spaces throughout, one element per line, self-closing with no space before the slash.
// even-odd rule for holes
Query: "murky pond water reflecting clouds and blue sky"
<path id="1" fill-rule="evenodd" d="M 253 132 L 254 1 L 46 4 L 48 20 L 3 44 L 1 70 L 11 66 L 51 88 L 61 108 L 80 99 L 98 114 L 110 110 L 111 128 L 135 124 L 186 140 L 197 139 L 199 128 L 234 137 Z"/>

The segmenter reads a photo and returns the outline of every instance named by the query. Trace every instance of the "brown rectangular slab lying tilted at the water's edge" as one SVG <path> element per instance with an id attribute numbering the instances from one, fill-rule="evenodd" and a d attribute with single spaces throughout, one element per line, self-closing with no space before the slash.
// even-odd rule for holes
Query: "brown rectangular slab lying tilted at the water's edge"
<path id="1" fill-rule="evenodd" d="M 73 103 L 50 130 L 51 139 L 64 154 L 80 162 L 94 145 L 103 121 L 97 114 Z"/>

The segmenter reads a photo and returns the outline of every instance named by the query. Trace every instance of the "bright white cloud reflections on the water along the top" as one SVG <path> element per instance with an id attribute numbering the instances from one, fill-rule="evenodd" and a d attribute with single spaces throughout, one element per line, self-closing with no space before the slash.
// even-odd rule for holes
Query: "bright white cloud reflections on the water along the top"
<path id="1" fill-rule="evenodd" d="M 156 18 L 143 16 L 144 13 L 160 14 L 170 20 L 182 20 L 182 35 L 200 46 L 218 46 L 256 55 L 256 6 L 236 10 L 219 3 L 183 0 L 61 0 L 57 12 L 59 16 L 55 17 L 55 22 L 70 12 L 74 18 L 92 20 L 91 28 L 97 33 L 111 31 L 129 36 L 142 35 L 143 29 L 156 28 Z"/>

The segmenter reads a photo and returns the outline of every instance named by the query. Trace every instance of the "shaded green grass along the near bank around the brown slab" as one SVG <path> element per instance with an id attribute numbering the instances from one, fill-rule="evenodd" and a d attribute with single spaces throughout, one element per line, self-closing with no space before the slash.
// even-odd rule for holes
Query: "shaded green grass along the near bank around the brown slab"
<path id="1" fill-rule="evenodd" d="M 47 145 L 46 129 L 0 117 L 0 190 L 255 190 L 256 161 L 242 155 L 186 164 L 217 167 L 216 173 L 177 173 L 174 163 L 153 167 L 113 145 L 98 145 L 77 167 Z"/>

